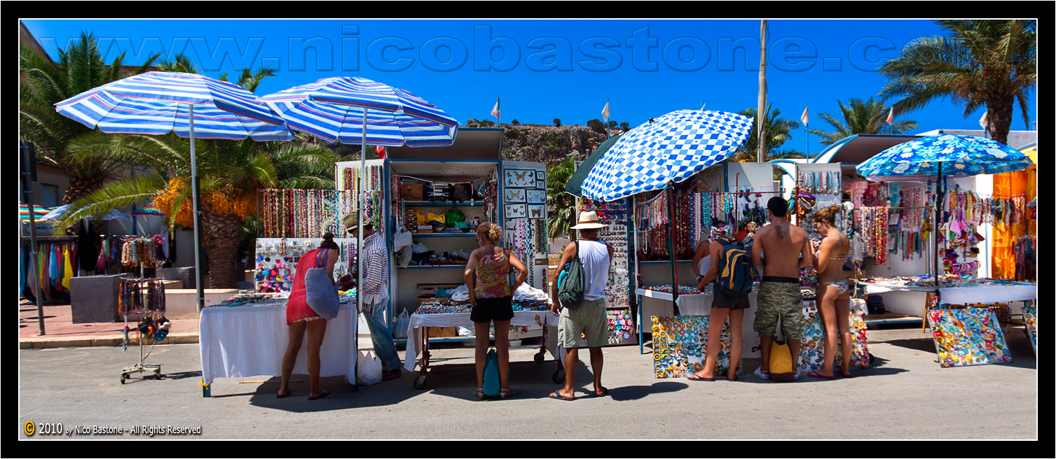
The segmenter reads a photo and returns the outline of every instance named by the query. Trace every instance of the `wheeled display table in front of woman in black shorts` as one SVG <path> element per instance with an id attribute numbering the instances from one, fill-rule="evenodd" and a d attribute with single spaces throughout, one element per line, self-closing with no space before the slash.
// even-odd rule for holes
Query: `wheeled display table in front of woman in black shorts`
<path id="1" fill-rule="evenodd" d="M 408 371 L 414 371 L 415 364 L 417 363 L 419 365 L 419 376 L 414 381 L 414 386 L 416 388 L 426 388 L 426 377 L 431 372 L 431 370 L 436 368 L 436 365 L 430 364 L 431 355 L 429 348 L 429 329 L 431 327 L 467 327 L 470 330 L 473 330 L 474 323 L 470 320 L 471 310 L 472 309 L 468 302 L 433 300 L 421 303 L 418 305 L 415 312 L 411 314 L 407 328 L 408 340 L 403 368 Z M 558 318 L 550 312 L 549 301 L 540 301 L 535 299 L 514 301 L 513 319 L 510 320 L 510 327 L 533 326 L 538 326 L 543 329 L 543 337 L 539 346 L 539 352 L 535 353 L 533 362 L 542 363 L 545 360 L 545 352 L 549 350 L 550 353 L 554 356 L 554 360 L 558 362 L 558 370 L 554 371 L 553 375 L 554 382 L 559 382 L 559 379 L 560 381 L 564 381 L 564 371 L 561 359 L 559 358 L 561 352 L 559 349 L 546 349 L 545 346 L 547 338 L 551 332 L 550 328 L 555 328 L 558 326 Z M 491 337 L 489 337 L 489 339 L 493 340 L 495 332 L 496 330 L 492 329 Z M 419 355 L 421 355 L 420 362 L 418 361 Z M 469 363 L 449 364 L 444 366 L 471 367 L 473 365 L 473 363 Z"/>

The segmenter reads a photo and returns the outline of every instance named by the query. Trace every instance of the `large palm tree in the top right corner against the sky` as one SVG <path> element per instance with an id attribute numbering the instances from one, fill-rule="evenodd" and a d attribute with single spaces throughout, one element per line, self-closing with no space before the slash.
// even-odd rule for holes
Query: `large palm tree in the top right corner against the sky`
<path id="1" fill-rule="evenodd" d="M 993 138 L 1008 139 L 1016 102 L 1030 129 L 1029 96 L 1037 82 L 1037 21 L 936 21 L 951 33 L 922 37 L 897 59 L 884 62 L 888 78 L 880 92 L 885 100 L 904 96 L 894 110 L 909 112 L 932 99 L 949 96 L 964 101 L 964 117 L 986 106 Z"/>

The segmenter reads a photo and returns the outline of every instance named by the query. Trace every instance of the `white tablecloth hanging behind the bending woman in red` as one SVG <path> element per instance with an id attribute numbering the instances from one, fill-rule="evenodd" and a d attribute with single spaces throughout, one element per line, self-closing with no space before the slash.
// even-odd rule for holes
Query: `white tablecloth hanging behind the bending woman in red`
<path id="1" fill-rule="evenodd" d="M 327 321 L 319 350 L 320 377 L 344 376 L 356 381 L 357 315 L 355 304 L 342 304 L 337 318 Z M 202 381 L 210 384 L 214 378 L 281 376 L 287 344 L 285 305 L 204 308 L 199 319 Z M 308 374 L 306 349 L 302 343 L 294 374 Z"/>

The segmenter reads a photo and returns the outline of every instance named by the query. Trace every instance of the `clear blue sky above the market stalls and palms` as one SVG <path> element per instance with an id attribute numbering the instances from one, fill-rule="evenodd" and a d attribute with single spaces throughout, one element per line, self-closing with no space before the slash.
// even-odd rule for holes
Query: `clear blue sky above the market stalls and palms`
<path id="1" fill-rule="evenodd" d="M 206 75 L 244 66 L 278 66 L 259 95 L 336 75 L 361 76 L 411 91 L 461 122 L 494 119 L 585 125 L 601 118 L 630 126 L 680 109 L 737 112 L 756 107 L 759 22 L 756 20 L 25 20 L 53 58 L 89 31 L 108 62 L 126 52 L 139 63 L 183 52 Z M 818 114 L 838 114 L 836 100 L 875 96 L 876 72 L 910 40 L 941 34 L 922 20 L 771 20 L 768 101 L 810 127 L 829 131 Z M 489 47 L 491 49 L 489 53 Z M 1033 100 L 1033 97 L 1032 97 Z M 923 132 L 979 129 L 982 111 L 936 101 L 900 115 Z M 1016 108 L 1013 130 L 1023 125 Z M 838 117 L 838 116 L 837 116 Z M 1031 108 L 1031 120 L 1036 108 Z M 809 150 L 824 149 L 810 136 Z M 808 149 L 806 130 L 787 147 Z"/>

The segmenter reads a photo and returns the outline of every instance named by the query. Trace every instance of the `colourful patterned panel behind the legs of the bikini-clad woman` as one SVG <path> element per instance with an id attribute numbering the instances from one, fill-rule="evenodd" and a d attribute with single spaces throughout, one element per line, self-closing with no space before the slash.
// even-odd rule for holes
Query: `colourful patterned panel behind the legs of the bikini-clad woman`
<path id="1" fill-rule="evenodd" d="M 825 321 L 817 309 L 817 303 L 812 300 L 803 302 L 803 315 L 807 320 L 806 333 L 803 337 L 803 345 L 799 347 L 798 367 L 800 372 L 822 369 L 825 363 Z M 869 347 L 866 343 L 865 319 L 862 311 L 852 307 L 850 310 L 849 325 L 854 343 L 851 348 L 851 368 L 865 369 L 869 367 Z M 838 368 L 843 364 L 844 356 L 843 337 L 836 334 L 836 357 L 833 360 L 833 367 Z"/>

